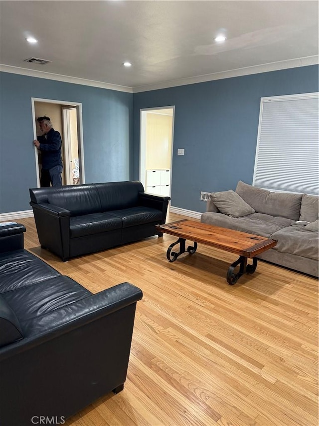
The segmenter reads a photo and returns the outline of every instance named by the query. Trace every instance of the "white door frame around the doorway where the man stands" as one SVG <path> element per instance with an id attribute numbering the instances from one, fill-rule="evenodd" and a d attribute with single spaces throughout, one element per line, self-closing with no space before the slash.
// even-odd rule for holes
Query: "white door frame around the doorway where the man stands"
<path id="1" fill-rule="evenodd" d="M 80 102 L 67 102 L 65 100 L 42 99 L 42 98 L 37 98 L 37 97 L 31 97 L 31 109 L 32 109 L 34 139 L 36 139 L 36 120 L 35 120 L 34 102 L 56 103 L 56 104 L 60 104 L 60 105 L 75 106 L 76 107 L 77 126 L 78 126 L 79 163 L 81 164 L 81 167 L 80 167 L 80 183 L 85 183 L 82 103 L 80 103 Z M 38 152 L 37 151 L 38 151 L 37 147 L 34 146 L 36 182 L 37 182 L 37 187 L 39 188 L 40 187 L 40 174 L 39 174 L 39 161 L 38 161 Z"/>

